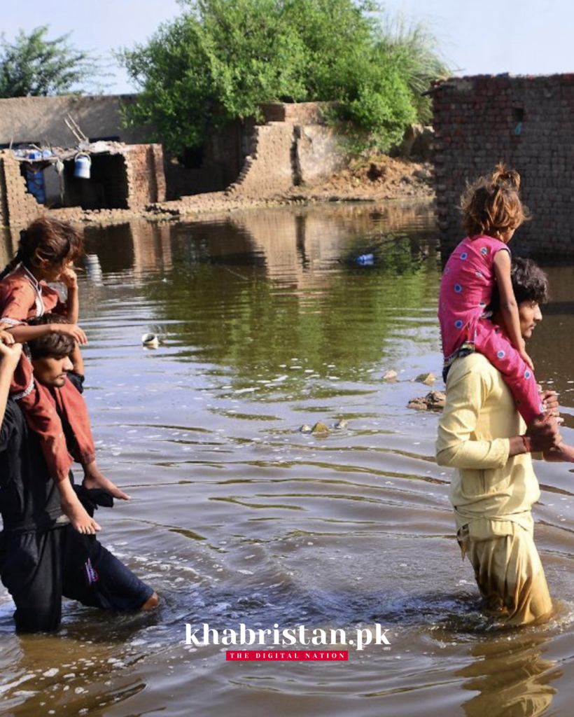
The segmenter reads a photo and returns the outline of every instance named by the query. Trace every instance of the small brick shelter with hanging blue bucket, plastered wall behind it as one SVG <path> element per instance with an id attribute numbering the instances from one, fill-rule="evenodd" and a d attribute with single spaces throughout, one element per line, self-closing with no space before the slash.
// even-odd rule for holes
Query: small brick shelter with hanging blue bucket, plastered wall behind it
<path id="1" fill-rule="evenodd" d="M 121 127 L 120 104 L 129 101 L 0 100 L 0 223 L 26 224 L 47 209 L 71 220 L 163 201 L 162 148 L 142 143 L 145 128 Z"/>

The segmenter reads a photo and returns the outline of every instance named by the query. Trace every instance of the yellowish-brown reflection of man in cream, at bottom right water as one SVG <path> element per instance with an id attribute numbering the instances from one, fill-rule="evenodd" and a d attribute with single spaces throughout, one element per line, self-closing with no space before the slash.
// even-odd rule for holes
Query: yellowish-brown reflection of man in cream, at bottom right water
<path id="1" fill-rule="evenodd" d="M 535 717 L 549 708 L 556 693 L 550 686 L 563 673 L 542 657 L 542 635 L 479 642 L 475 658 L 456 675 L 467 678 L 465 690 L 478 694 L 463 704 L 467 717 Z"/>

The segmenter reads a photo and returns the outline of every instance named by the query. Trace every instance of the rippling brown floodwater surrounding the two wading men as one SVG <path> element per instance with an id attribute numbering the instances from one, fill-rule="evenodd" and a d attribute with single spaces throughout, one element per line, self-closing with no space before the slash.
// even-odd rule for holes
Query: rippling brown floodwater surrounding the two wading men
<path id="1" fill-rule="evenodd" d="M 133 222 L 85 239 L 85 397 L 98 462 L 133 496 L 100 510 L 100 538 L 161 607 L 66 602 L 57 635 L 16 637 L 1 588 L 3 714 L 570 715 L 570 467 L 537 470 L 558 616 L 492 630 L 434 462 L 437 415 L 407 408 L 429 390 L 416 376 L 441 369 L 430 204 Z M 574 265 L 547 270 L 553 299 L 529 353 L 574 442 Z M 142 346 L 150 331 L 158 348 Z M 328 432 L 300 431 L 316 422 Z M 186 644 L 186 625 L 204 623 L 365 640 L 380 625 L 390 644 L 339 643 L 347 662 L 228 662 L 233 645 Z"/>

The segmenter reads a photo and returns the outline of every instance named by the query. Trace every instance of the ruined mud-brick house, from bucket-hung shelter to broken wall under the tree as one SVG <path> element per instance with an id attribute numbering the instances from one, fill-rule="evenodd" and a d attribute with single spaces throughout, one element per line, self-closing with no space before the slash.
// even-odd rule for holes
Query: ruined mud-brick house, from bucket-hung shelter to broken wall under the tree
<path id="1" fill-rule="evenodd" d="M 86 211 L 131 212 L 165 199 L 225 192 L 237 199 L 277 196 L 342 166 L 338 138 L 317 103 L 262 105 L 263 121 L 230 123 L 201 151 L 163 157 L 125 130 L 133 96 L 0 100 L 0 222 L 19 225 L 43 212 L 80 219 Z M 81 134 L 80 134 L 81 133 Z M 89 177 L 78 163 L 90 163 Z"/>

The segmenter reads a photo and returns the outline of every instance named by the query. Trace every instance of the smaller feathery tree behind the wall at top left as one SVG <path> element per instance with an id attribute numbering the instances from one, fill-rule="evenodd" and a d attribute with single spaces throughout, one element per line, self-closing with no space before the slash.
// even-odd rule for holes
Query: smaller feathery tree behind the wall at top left
<path id="1" fill-rule="evenodd" d="M 64 95 L 102 75 L 99 60 L 68 44 L 70 33 L 47 39 L 42 25 L 14 42 L 0 36 L 0 98 Z"/>

